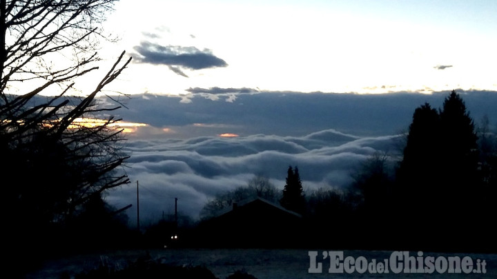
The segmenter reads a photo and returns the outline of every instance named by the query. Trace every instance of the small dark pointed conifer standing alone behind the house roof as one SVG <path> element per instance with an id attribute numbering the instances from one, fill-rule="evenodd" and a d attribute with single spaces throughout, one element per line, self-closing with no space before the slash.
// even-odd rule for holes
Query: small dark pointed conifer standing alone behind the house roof
<path id="1" fill-rule="evenodd" d="M 305 211 L 306 202 L 304 189 L 302 188 L 302 181 L 300 180 L 300 174 L 298 172 L 298 167 L 296 166 L 295 170 L 289 166 L 288 175 L 286 176 L 286 185 L 283 189 L 283 197 L 280 199 L 280 205 L 299 214 L 303 214 Z"/>

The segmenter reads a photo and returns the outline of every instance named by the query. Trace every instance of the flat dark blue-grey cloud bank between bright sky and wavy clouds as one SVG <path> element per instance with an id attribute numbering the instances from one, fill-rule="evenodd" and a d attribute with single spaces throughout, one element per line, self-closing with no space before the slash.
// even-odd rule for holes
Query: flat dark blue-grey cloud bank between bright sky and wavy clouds
<path id="1" fill-rule="evenodd" d="M 249 88 L 192 88 L 190 94 L 133 95 L 117 114 L 147 123 L 135 136 L 191 138 L 233 133 L 304 136 L 335 129 L 359 136 L 405 132 L 416 107 L 440 107 L 449 92 L 437 94 L 333 94 L 258 92 Z M 484 114 L 497 121 L 496 92 L 461 92 L 476 123 Z M 164 129 L 168 132 L 164 132 Z"/>

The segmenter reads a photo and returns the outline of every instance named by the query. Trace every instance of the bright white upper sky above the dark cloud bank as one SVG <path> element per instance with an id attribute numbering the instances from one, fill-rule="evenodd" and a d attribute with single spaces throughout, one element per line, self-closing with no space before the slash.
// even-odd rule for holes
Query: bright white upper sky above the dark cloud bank
<path id="1" fill-rule="evenodd" d="M 497 90 L 497 1 L 121 0 L 105 28 L 128 94 Z"/>

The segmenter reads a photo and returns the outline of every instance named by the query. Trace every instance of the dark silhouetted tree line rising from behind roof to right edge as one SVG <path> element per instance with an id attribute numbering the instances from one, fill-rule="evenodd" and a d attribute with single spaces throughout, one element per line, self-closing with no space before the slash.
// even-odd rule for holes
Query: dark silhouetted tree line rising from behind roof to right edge
<path id="1" fill-rule="evenodd" d="M 202 215 L 260 196 L 302 214 L 310 245 L 495 251 L 497 138 L 488 118 L 476 127 L 453 90 L 438 110 L 429 103 L 416 108 L 405 139 L 393 167 L 388 154 L 373 154 L 344 189 L 305 193 L 298 167 L 290 166 L 282 191 L 255 176 L 248 187 L 210 200 Z"/>

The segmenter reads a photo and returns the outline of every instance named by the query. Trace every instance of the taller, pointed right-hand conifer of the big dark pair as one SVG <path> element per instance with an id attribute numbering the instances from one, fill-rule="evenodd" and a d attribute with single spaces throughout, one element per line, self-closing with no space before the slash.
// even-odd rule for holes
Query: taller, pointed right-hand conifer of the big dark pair
<path id="1" fill-rule="evenodd" d="M 472 226 L 457 226 L 460 220 L 481 223 L 481 183 L 478 177 L 478 137 L 465 102 L 452 91 L 440 110 L 440 214 L 445 216 L 445 229 L 464 236 L 472 246 L 476 236 Z"/>

